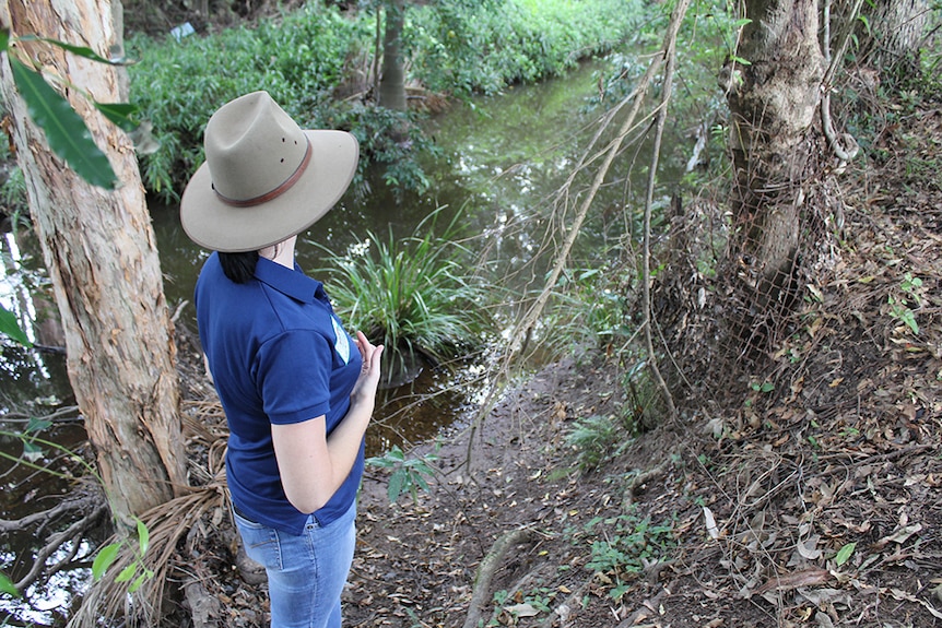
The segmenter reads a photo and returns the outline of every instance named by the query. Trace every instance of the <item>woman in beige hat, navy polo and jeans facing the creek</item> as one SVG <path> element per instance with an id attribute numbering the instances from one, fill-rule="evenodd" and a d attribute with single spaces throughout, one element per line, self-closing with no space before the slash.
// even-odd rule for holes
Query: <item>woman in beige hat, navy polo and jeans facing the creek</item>
<path id="1" fill-rule="evenodd" d="M 382 346 L 350 337 L 294 247 L 346 190 L 358 146 L 302 130 L 264 92 L 213 114 L 204 144 L 180 221 L 215 251 L 197 322 L 229 427 L 236 525 L 266 567 L 272 627 L 337 628 Z"/>

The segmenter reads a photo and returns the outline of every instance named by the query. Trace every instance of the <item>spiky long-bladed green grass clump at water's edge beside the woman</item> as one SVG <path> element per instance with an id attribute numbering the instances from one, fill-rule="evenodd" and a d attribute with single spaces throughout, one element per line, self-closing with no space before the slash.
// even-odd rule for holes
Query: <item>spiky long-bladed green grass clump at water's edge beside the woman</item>
<path id="1" fill-rule="evenodd" d="M 439 365 L 468 356 L 490 330 L 491 291 L 469 270 L 471 254 L 454 241 L 454 222 L 443 236 L 433 234 L 435 215 L 410 237 L 369 233 L 345 253 L 327 251 L 321 272 L 334 280 L 334 309 L 350 329 L 386 345 L 389 378 L 413 370 L 416 359 Z"/>

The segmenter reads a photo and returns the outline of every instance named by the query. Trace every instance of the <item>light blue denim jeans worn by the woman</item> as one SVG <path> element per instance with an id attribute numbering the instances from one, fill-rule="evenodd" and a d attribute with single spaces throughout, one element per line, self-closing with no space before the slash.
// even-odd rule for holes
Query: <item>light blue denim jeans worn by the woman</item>
<path id="1" fill-rule="evenodd" d="M 340 593 L 353 562 L 356 503 L 321 528 L 309 517 L 301 536 L 235 516 L 246 554 L 264 566 L 272 628 L 340 628 Z"/>

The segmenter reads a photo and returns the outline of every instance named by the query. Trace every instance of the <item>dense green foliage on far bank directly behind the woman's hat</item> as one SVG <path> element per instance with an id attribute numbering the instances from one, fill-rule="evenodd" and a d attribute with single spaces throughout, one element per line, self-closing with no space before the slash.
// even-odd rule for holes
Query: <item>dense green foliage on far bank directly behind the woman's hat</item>
<path id="1" fill-rule="evenodd" d="M 344 78 L 348 59 L 372 44 L 368 16 L 307 2 L 254 28 L 236 27 L 177 42 L 142 35 L 128 42 L 131 102 L 153 126 L 155 151 L 141 159 L 144 186 L 174 201 L 202 162 L 202 130 L 222 104 L 258 90 L 302 126 L 318 120 Z"/>

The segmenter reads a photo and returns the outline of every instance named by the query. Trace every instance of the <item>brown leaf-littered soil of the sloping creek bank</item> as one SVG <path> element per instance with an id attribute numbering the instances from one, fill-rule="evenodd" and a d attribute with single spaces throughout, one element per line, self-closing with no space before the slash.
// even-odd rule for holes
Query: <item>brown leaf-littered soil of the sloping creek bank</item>
<path id="1" fill-rule="evenodd" d="M 625 416 L 625 366 L 542 369 L 407 452 L 427 489 L 390 503 L 389 471 L 367 471 L 345 626 L 942 626 L 942 109 L 898 120 L 843 176 L 839 262 L 777 393 L 676 400 L 592 449 L 572 435 Z M 216 600 L 196 624 L 264 625 L 264 584 L 205 520 L 180 557 Z"/>

